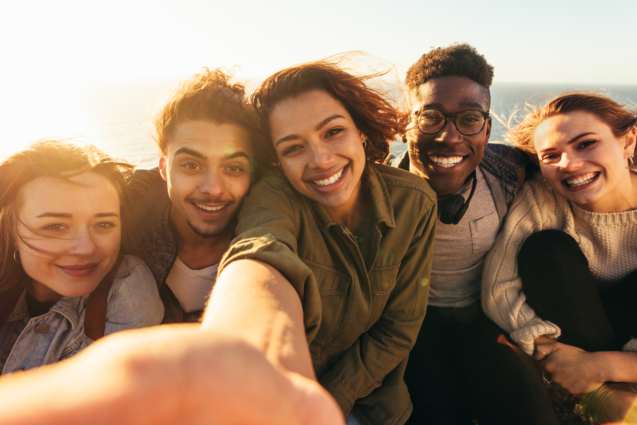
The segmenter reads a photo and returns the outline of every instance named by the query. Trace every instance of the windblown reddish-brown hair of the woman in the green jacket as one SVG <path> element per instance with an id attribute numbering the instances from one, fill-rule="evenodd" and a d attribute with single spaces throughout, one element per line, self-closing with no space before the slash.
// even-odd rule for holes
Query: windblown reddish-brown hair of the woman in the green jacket
<path id="1" fill-rule="evenodd" d="M 366 83 L 387 72 L 354 76 L 343 70 L 338 60 L 308 62 L 266 78 L 252 94 L 252 105 L 262 131 L 269 134 L 269 114 L 278 103 L 312 90 L 327 92 L 343 104 L 356 127 L 366 134 L 368 163 L 383 161 L 389 155 L 389 143 L 396 140 L 397 134 L 404 133 L 408 124 L 406 113 Z M 268 161 L 275 165 L 278 159 L 271 141 L 264 141 L 264 145 Z"/>

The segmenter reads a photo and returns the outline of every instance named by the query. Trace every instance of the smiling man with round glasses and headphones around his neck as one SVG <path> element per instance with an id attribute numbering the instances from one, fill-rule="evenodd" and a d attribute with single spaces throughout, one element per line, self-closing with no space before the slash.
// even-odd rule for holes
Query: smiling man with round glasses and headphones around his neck
<path id="1" fill-rule="evenodd" d="M 468 44 L 422 55 L 408 70 L 413 128 L 388 163 L 427 179 L 438 222 L 427 315 L 404 373 L 408 424 L 555 424 L 531 357 L 480 306 L 482 263 L 529 158 L 489 143 L 493 67 Z"/>

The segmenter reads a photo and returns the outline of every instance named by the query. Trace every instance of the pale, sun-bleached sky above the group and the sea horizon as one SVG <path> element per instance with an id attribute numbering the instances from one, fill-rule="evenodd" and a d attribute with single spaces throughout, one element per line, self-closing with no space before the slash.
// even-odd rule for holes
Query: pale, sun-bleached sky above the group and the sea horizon
<path id="1" fill-rule="evenodd" d="M 634 0 L 4 0 L 0 10 L 0 156 L 16 135 L 82 128 L 82 87 L 169 87 L 201 66 L 239 65 L 236 78 L 255 84 L 357 50 L 403 77 L 431 47 L 466 41 L 495 83 L 637 84 Z"/>

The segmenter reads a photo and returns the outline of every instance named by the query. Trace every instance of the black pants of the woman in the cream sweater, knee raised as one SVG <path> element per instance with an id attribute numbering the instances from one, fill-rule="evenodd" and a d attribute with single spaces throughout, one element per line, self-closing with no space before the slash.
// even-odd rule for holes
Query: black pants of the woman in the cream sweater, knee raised
<path id="1" fill-rule="evenodd" d="M 588 259 L 575 239 L 559 230 L 529 236 L 518 269 L 526 302 L 538 317 L 562 329 L 559 342 L 587 351 L 619 351 L 637 336 L 637 271 L 600 294 Z"/>

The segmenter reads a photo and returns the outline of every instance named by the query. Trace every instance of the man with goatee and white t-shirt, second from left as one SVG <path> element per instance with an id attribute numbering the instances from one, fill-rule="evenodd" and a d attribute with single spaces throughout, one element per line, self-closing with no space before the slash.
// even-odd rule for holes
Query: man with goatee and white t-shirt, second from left
<path id="1" fill-rule="evenodd" d="M 162 323 L 201 319 L 254 180 L 256 124 L 244 85 L 230 78 L 204 68 L 163 99 L 153 118 L 159 167 L 129 182 L 124 250 L 152 270 Z"/>

